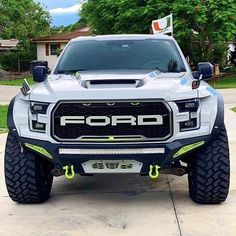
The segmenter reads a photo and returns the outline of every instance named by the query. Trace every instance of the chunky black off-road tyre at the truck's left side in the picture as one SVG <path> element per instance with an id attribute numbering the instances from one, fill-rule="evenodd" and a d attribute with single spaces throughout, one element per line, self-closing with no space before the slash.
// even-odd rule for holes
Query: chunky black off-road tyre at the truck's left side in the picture
<path id="1" fill-rule="evenodd" d="M 8 134 L 5 150 L 5 181 L 10 198 L 18 203 L 42 203 L 49 198 L 53 176 L 50 163 L 24 150 Z"/>

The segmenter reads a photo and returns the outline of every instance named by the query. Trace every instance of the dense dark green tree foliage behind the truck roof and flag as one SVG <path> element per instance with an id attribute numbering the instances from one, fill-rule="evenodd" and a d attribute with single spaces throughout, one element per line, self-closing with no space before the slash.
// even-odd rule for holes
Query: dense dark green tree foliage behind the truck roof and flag
<path id="1" fill-rule="evenodd" d="M 223 63 L 236 34 L 235 0 L 88 0 L 82 16 L 94 33 L 149 33 L 151 21 L 170 13 L 174 35 L 194 62 Z"/>

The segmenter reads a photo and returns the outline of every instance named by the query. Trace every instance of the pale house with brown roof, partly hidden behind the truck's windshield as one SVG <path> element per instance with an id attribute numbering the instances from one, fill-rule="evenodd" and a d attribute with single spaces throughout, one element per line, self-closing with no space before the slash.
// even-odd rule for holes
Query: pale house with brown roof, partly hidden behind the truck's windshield
<path id="1" fill-rule="evenodd" d="M 58 53 L 65 48 L 71 39 L 88 35 L 90 35 L 90 29 L 85 27 L 74 32 L 64 32 L 51 36 L 34 38 L 31 42 L 37 44 L 37 60 L 47 61 L 48 67 L 53 69 L 58 59 Z"/>

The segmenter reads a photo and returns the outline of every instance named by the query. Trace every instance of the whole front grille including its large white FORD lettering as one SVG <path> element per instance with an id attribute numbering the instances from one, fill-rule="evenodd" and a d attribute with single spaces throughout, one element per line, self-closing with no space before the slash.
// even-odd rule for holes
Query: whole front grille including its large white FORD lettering
<path id="1" fill-rule="evenodd" d="M 172 112 L 164 101 L 60 102 L 52 111 L 52 137 L 86 142 L 166 140 L 172 135 Z M 86 139 L 87 137 L 87 139 Z M 112 138 L 111 138 L 112 137 Z M 119 137 L 119 138 L 117 138 Z M 99 139 L 101 138 L 101 139 Z"/>

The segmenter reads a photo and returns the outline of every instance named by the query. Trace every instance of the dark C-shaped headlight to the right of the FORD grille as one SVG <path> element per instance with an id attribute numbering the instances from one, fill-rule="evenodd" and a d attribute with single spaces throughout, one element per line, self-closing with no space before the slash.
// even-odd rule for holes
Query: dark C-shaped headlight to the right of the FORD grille
<path id="1" fill-rule="evenodd" d="M 176 102 L 179 112 L 189 112 L 190 119 L 180 122 L 180 131 L 188 131 L 199 128 L 199 99 Z"/>

